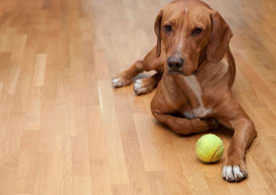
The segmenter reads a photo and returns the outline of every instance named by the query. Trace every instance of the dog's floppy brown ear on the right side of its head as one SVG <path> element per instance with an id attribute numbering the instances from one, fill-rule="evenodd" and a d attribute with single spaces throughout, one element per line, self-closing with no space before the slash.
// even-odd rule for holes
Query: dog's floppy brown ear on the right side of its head
<path id="1" fill-rule="evenodd" d="M 217 10 L 212 9 L 210 16 L 212 21 L 212 34 L 207 45 L 206 55 L 210 62 L 218 63 L 223 58 L 233 33 Z"/>

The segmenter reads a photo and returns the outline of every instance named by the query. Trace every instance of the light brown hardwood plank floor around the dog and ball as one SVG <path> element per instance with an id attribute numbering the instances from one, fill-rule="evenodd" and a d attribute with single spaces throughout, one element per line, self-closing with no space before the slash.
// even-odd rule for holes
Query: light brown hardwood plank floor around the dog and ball
<path id="1" fill-rule="evenodd" d="M 276 194 L 276 2 L 206 0 L 230 24 L 233 94 L 258 137 L 249 177 L 221 178 L 110 78 L 156 43 L 169 0 L 0 1 L 0 194 Z M 227 148 L 233 132 L 219 127 Z"/>

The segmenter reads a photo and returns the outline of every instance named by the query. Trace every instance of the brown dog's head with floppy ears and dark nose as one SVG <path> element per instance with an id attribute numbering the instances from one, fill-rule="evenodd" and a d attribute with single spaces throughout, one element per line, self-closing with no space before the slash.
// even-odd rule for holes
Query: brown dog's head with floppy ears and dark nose
<path id="1" fill-rule="evenodd" d="M 200 0 L 175 0 L 156 17 L 157 57 L 161 41 L 166 52 L 165 70 L 193 74 L 199 58 L 219 62 L 233 35 L 218 11 Z"/>

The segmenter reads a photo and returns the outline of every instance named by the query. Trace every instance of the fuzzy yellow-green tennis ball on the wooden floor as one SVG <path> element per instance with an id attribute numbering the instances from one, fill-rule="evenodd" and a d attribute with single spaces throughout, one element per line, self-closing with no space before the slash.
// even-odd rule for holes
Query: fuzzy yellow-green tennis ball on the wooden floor
<path id="1" fill-rule="evenodd" d="M 215 162 L 223 153 L 223 142 L 214 134 L 205 134 L 196 142 L 196 155 L 204 162 Z"/>

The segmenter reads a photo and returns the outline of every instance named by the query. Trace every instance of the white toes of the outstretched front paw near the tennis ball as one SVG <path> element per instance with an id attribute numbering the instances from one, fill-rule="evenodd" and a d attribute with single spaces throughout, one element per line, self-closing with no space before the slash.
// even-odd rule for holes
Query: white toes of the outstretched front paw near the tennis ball
<path id="1" fill-rule="evenodd" d="M 227 181 L 240 181 L 247 176 L 240 171 L 238 165 L 224 165 L 221 175 Z"/>

